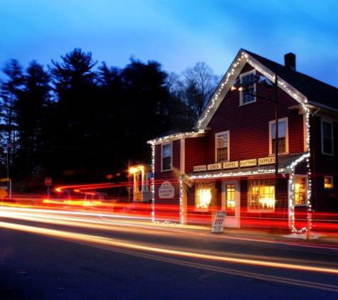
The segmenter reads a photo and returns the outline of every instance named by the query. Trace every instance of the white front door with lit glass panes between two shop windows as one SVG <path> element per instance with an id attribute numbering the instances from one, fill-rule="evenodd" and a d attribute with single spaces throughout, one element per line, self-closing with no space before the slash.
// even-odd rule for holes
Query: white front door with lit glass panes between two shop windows
<path id="1" fill-rule="evenodd" d="M 224 227 L 240 227 L 240 191 L 238 181 L 222 181 L 222 210 L 226 210 Z"/>

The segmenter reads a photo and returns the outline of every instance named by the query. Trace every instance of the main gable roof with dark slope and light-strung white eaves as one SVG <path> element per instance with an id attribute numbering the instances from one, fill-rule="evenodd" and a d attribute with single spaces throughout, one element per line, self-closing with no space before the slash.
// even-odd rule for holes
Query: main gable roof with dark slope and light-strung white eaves
<path id="1" fill-rule="evenodd" d="M 263 58 L 260 55 L 241 49 L 236 55 L 235 60 L 224 75 L 211 100 L 206 105 L 204 112 L 196 122 L 194 129 L 206 129 L 213 114 L 223 102 L 226 94 L 231 90 L 232 82 L 241 73 L 244 65 L 248 63 L 253 66 L 263 76 L 268 77 L 271 82 L 275 82 L 275 75 L 278 75 L 278 87 L 287 92 L 300 105 L 314 105 L 324 107 L 334 112 L 338 112 L 338 89 L 332 85 L 316 80 L 310 76 L 299 73 L 291 68 L 275 63 L 272 60 Z"/>

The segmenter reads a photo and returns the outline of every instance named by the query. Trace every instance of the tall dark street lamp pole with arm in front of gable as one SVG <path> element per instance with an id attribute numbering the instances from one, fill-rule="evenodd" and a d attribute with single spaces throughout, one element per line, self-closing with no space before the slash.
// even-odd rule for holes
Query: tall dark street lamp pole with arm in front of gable
<path id="1" fill-rule="evenodd" d="M 245 90 L 246 95 L 250 95 L 253 97 L 257 97 L 261 100 L 266 100 L 269 102 L 275 103 L 275 201 L 278 199 L 278 78 L 277 74 L 275 74 L 275 84 L 270 82 L 267 77 L 261 76 L 261 75 L 253 75 L 253 80 L 250 80 L 248 82 L 241 83 L 241 80 L 238 78 L 236 81 L 233 82 L 233 85 L 231 86 L 231 90 Z M 263 85 L 266 89 L 272 89 L 273 90 L 273 97 L 262 97 L 261 95 L 258 95 L 257 92 L 250 93 L 248 92 L 248 88 L 250 85 L 253 85 L 257 83 L 258 85 Z"/>

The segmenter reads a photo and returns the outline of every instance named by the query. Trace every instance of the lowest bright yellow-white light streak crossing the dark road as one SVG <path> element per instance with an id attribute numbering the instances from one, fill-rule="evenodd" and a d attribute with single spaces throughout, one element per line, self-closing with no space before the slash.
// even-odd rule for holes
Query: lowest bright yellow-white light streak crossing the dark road
<path id="1" fill-rule="evenodd" d="M 12 229 L 12 230 L 21 230 L 25 232 L 36 233 L 40 235 L 47 235 L 50 237 L 57 237 L 61 239 L 76 241 L 76 242 L 88 242 L 95 245 L 105 245 L 109 247 L 122 247 L 129 250 L 138 250 L 142 252 L 156 252 L 157 254 L 162 255 L 174 255 L 179 257 L 186 257 L 191 259 L 208 259 L 218 262 L 233 262 L 237 264 L 251 264 L 255 266 L 263 267 L 274 267 L 274 268 L 283 268 L 283 269 L 293 269 L 300 271 L 310 271 L 310 272 L 323 272 L 329 274 L 338 274 L 338 269 L 327 268 L 327 267 L 313 267 L 313 266 L 304 266 L 300 264 L 287 264 L 280 262 L 267 262 L 266 259 L 248 259 L 248 258 L 236 258 L 229 256 L 220 256 L 220 255 L 206 255 L 197 252 L 187 252 L 181 250 L 172 250 L 164 249 L 159 247 L 151 247 L 148 245 L 134 244 L 131 242 L 125 242 L 120 240 L 115 240 L 110 237 L 100 237 L 93 235 L 84 235 L 74 232 L 66 232 L 62 230 L 53 230 L 41 227 L 33 227 L 29 225 L 19 225 L 14 223 L 5 223 L 0 222 L 0 227 Z"/>

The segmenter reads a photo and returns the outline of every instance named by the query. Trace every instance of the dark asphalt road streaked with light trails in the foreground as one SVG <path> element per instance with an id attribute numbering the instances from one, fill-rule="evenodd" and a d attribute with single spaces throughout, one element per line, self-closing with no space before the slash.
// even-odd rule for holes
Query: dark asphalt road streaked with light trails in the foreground
<path id="1" fill-rule="evenodd" d="M 337 240 L 29 211 L 0 218 L 0 299 L 338 298 Z"/>

